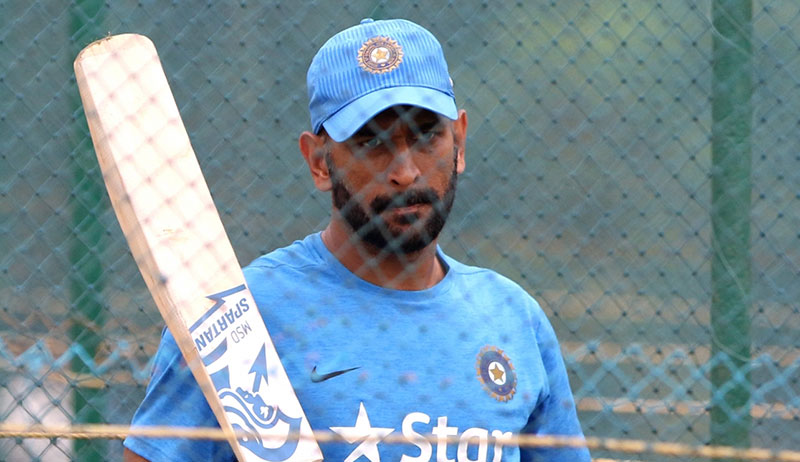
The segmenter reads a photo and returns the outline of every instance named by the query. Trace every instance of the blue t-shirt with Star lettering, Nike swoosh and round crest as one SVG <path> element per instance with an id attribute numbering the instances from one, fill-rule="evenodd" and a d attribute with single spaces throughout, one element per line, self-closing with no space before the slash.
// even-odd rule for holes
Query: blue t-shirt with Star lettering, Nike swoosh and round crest
<path id="1" fill-rule="evenodd" d="M 439 256 L 447 274 L 421 291 L 360 279 L 318 233 L 244 269 L 311 427 L 349 438 L 322 444 L 325 460 L 588 461 L 586 449 L 505 444 L 517 433 L 582 436 L 558 341 L 517 284 Z M 166 330 L 133 424 L 217 425 Z M 380 439 L 389 434 L 408 442 Z M 125 446 L 152 462 L 235 460 L 224 442 Z"/>

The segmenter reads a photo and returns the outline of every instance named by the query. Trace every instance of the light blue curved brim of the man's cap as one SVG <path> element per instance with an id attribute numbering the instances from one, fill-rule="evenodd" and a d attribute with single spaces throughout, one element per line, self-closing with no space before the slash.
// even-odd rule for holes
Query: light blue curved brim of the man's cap
<path id="1" fill-rule="evenodd" d="M 322 123 L 334 141 L 341 143 L 384 110 L 398 105 L 418 106 L 456 120 L 455 99 L 439 90 L 425 87 L 390 87 L 367 93 L 343 107 Z"/>

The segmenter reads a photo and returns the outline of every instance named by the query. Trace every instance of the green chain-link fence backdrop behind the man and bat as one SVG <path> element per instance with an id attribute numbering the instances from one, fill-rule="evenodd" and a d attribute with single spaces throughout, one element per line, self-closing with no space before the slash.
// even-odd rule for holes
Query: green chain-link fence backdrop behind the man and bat
<path id="1" fill-rule="evenodd" d="M 800 447 L 800 3 L 397 3 L 0 2 L 0 420 L 127 424 L 163 326 L 91 147 L 82 47 L 151 37 L 247 263 L 328 219 L 297 150 L 311 57 L 405 17 L 470 120 L 441 244 L 541 303 L 585 434 Z M 10 461 L 120 454 L 0 440 Z"/>

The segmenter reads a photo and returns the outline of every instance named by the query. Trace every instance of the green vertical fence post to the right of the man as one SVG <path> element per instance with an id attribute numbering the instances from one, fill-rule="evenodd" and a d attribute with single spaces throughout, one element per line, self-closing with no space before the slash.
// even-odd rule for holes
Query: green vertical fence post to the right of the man
<path id="1" fill-rule="evenodd" d="M 711 8 L 711 443 L 748 447 L 752 0 Z"/>

